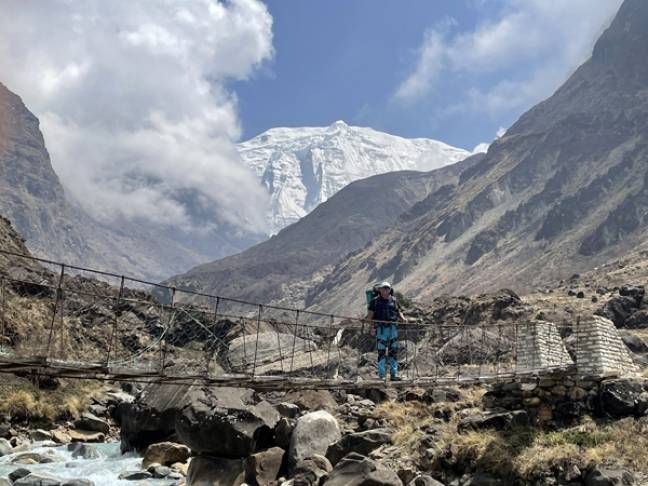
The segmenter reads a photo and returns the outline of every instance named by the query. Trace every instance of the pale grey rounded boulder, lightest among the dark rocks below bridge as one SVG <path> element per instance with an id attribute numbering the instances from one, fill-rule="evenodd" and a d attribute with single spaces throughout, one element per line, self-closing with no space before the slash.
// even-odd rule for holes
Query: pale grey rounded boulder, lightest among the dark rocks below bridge
<path id="1" fill-rule="evenodd" d="M 290 438 L 288 463 L 294 467 L 315 454 L 323 456 L 329 446 L 341 438 L 340 425 L 330 413 L 318 410 L 302 415 Z"/>

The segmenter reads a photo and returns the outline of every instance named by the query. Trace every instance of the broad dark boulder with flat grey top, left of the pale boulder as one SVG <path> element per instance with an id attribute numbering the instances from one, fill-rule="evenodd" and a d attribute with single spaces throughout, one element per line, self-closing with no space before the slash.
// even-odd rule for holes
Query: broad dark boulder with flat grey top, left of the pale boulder
<path id="1" fill-rule="evenodd" d="M 180 442 L 194 453 L 239 458 L 272 445 L 279 413 L 267 402 L 254 404 L 246 390 L 205 389 L 176 418 Z"/>

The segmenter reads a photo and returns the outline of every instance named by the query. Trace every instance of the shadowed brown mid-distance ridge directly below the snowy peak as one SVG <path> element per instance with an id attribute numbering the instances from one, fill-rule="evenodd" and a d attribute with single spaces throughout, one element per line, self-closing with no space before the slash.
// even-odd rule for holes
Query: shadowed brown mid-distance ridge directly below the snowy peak
<path id="1" fill-rule="evenodd" d="M 169 283 L 258 302 L 300 303 L 312 279 L 338 259 L 392 232 L 415 203 L 481 159 L 421 173 L 393 172 L 353 182 L 297 223 L 238 255 L 200 265 Z M 304 284 L 300 283 L 303 280 Z"/>

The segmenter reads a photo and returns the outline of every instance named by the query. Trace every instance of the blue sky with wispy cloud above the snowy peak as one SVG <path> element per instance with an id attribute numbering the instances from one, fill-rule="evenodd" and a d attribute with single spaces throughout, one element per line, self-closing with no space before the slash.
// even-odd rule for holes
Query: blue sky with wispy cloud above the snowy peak
<path id="1" fill-rule="evenodd" d="M 472 149 L 550 95 L 620 0 L 266 0 L 274 56 L 236 82 L 243 139 L 337 119 Z"/>

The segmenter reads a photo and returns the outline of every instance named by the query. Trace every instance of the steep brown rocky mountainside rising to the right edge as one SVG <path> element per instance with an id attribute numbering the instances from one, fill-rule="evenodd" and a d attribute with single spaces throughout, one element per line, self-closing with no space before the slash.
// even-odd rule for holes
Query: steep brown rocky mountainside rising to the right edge
<path id="1" fill-rule="evenodd" d="M 412 296 L 525 292 L 622 255 L 648 228 L 648 3 L 626 0 L 593 55 L 458 184 L 341 262 L 313 306 L 357 308 L 393 279 Z"/>

